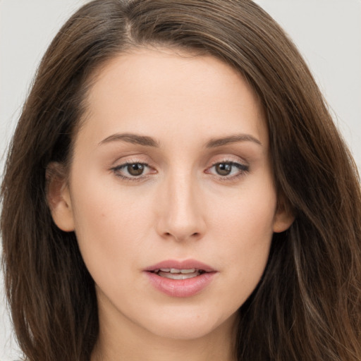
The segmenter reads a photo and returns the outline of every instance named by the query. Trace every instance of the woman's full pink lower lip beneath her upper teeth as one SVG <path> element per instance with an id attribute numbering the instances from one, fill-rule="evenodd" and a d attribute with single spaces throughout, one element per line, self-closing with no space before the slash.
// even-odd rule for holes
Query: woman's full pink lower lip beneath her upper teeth
<path id="1" fill-rule="evenodd" d="M 166 279 L 154 272 L 145 271 L 152 286 L 171 297 L 191 297 L 206 288 L 216 272 L 207 272 L 191 279 Z"/>

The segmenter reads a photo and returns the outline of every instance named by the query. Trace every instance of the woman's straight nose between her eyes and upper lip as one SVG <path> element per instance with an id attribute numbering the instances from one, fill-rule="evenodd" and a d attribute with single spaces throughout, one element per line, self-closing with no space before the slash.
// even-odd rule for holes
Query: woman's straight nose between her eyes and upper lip
<path id="1" fill-rule="evenodd" d="M 198 240 L 206 229 L 204 204 L 191 174 L 169 177 L 159 189 L 157 232 L 178 242 Z"/>

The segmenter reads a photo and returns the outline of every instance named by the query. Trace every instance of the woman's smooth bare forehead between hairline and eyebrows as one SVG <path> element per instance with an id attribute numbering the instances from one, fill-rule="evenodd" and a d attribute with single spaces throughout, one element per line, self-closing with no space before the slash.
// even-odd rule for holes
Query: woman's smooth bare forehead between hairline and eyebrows
<path id="1" fill-rule="evenodd" d="M 262 106 L 240 73 L 213 56 L 163 48 L 134 49 L 99 69 L 85 120 L 97 139 L 124 131 L 178 137 L 181 130 L 199 140 L 268 137 Z"/>

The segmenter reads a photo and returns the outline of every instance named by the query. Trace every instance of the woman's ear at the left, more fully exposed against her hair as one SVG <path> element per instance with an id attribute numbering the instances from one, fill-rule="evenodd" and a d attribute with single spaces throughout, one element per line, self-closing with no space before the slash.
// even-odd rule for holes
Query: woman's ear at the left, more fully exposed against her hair
<path id="1" fill-rule="evenodd" d="M 51 216 L 62 231 L 74 231 L 73 209 L 63 166 L 51 163 L 47 166 L 47 201 Z"/>

